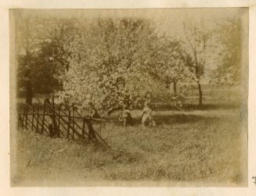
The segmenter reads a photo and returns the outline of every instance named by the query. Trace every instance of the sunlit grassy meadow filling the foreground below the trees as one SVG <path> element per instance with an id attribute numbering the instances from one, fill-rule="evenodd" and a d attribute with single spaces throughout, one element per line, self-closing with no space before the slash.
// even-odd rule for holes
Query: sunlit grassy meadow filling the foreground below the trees
<path id="1" fill-rule="evenodd" d="M 247 186 L 239 108 L 158 111 L 153 128 L 139 112 L 133 127 L 96 125 L 110 148 L 11 131 L 12 186 Z"/>

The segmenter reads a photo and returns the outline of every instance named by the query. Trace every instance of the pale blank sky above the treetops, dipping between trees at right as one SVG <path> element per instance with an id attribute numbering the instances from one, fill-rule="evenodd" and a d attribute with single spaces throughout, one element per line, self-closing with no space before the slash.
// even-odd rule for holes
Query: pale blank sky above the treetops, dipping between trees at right
<path id="1" fill-rule="evenodd" d="M 226 19 L 246 18 L 248 8 L 199 8 L 199 9 L 14 9 L 18 17 L 41 16 L 78 19 L 142 18 L 153 20 L 160 33 L 180 38 L 183 23 L 198 23 L 204 20 L 204 28 L 213 28 L 214 23 Z"/>

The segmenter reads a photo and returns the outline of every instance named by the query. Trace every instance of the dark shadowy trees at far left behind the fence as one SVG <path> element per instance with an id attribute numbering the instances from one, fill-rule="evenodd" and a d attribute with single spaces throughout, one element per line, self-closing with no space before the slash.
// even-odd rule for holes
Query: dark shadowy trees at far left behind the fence
<path id="1" fill-rule="evenodd" d="M 18 84 L 23 87 L 27 72 L 36 93 L 50 93 L 62 85 L 68 69 L 69 44 L 78 26 L 75 20 L 20 17 L 17 22 Z M 25 24 L 25 25 L 24 25 Z"/>

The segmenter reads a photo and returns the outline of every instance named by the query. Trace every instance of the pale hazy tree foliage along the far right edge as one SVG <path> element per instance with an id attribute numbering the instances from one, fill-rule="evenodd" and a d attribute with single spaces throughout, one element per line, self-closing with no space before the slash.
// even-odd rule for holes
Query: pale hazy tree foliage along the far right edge
<path id="1" fill-rule="evenodd" d="M 241 80 L 242 27 L 240 19 L 229 19 L 218 24 L 215 30 L 218 45 L 222 48 L 216 58 L 217 68 L 212 72 L 211 83 L 236 86 Z"/>

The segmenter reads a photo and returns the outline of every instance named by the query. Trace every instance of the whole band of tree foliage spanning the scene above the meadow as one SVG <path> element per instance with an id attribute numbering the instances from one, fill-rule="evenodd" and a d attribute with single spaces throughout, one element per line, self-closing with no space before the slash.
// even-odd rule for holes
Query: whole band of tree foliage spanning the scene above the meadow
<path id="1" fill-rule="evenodd" d="M 214 30 L 204 28 L 204 21 L 184 23 L 179 39 L 159 34 L 153 20 L 135 17 L 17 20 L 18 84 L 29 76 L 36 93 L 58 91 L 59 102 L 69 105 L 137 105 L 167 94 L 171 84 L 177 96 L 179 83 L 197 84 L 201 105 L 207 58 L 217 51 L 211 82 L 240 81 L 240 20 L 225 20 Z M 209 50 L 216 45 L 218 50 Z"/>

